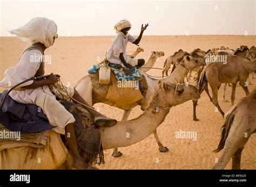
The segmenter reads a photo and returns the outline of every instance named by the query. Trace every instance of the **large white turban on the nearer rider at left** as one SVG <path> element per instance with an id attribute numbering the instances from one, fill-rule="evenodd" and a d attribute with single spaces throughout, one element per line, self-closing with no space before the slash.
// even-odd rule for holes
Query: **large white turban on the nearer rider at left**
<path id="1" fill-rule="evenodd" d="M 47 18 L 32 18 L 26 25 L 9 31 L 17 35 L 19 39 L 31 44 L 40 42 L 46 48 L 53 45 L 53 37 L 57 34 L 56 23 Z"/>

